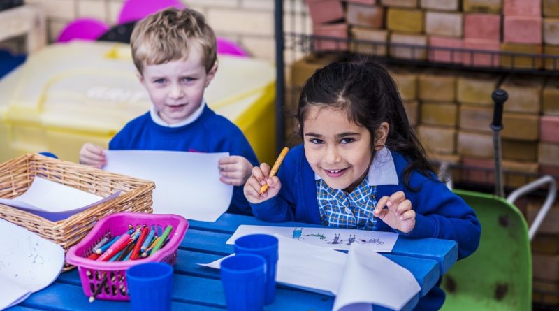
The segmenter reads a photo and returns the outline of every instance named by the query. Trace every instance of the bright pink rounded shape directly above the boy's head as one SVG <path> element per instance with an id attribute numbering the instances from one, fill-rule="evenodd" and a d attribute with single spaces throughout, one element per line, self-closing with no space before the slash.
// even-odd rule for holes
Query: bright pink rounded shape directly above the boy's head
<path id="1" fill-rule="evenodd" d="M 147 15 L 169 7 L 182 10 L 185 6 L 177 0 L 127 0 L 120 10 L 118 24 L 141 20 Z"/>

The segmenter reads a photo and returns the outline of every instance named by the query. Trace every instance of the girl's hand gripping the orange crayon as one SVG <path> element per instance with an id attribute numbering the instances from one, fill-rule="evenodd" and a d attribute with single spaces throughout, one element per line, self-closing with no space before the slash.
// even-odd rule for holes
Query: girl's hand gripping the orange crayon
<path id="1" fill-rule="evenodd" d="M 270 166 L 266 163 L 260 164 L 260 167 L 254 166 L 252 168 L 252 176 L 245 184 L 245 196 L 250 203 L 256 204 L 266 201 L 274 196 L 277 196 L 279 189 L 282 189 L 282 182 L 279 181 L 277 176 L 268 178 L 270 175 Z M 268 190 L 260 194 L 260 188 L 268 184 Z"/>

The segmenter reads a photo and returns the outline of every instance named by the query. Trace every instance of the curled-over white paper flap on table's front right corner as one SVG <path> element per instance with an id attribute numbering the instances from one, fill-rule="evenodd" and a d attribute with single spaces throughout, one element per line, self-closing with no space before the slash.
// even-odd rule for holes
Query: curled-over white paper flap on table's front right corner
<path id="1" fill-rule="evenodd" d="M 333 311 L 369 311 L 371 304 L 400 310 L 421 290 L 414 275 L 365 245 L 349 249 Z"/>

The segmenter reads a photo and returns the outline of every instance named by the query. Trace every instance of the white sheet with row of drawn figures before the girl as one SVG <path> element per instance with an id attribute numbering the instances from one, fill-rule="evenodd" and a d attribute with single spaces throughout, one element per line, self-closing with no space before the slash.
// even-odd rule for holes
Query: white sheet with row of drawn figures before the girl
<path id="1" fill-rule="evenodd" d="M 235 240 L 241 236 L 254 233 L 278 234 L 329 249 L 347 250 L 352 244 L 367 245 L 369 249 L 375 252 L 392 252 L 392 248 L 398 240 L 398 233 L 394 232 L 242 224 L 233 233 L 233 236 L 227 240 L 227 244 L 235 244 Z"/>

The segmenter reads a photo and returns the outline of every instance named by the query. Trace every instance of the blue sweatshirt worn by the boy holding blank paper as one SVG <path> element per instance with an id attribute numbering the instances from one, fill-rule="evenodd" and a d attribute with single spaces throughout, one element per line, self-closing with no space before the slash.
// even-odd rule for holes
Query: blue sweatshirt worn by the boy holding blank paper
<path id="1" fill-rule="evenodd" d="M 245 157 L 253 166 L 259 165 L 256 154 L 242 131 L 208 106 L 205 106 L 194 122 L 179 127 L 155 123 L 148 111 L 126 124 L 110 140 L 109 149 L 229 152 L 231 155 Z M 228 212 L 252 215 L 241 186 L 233 187 L 233 199 Z"/>

